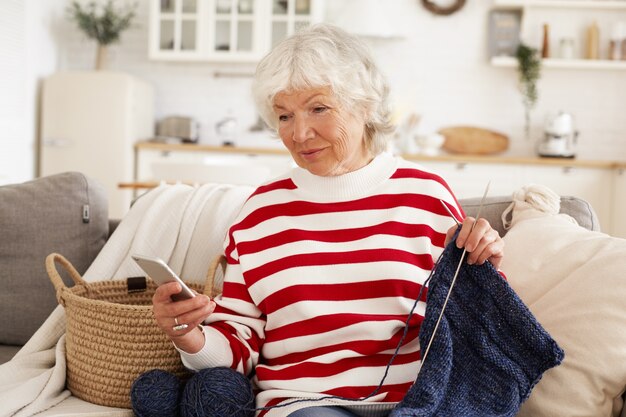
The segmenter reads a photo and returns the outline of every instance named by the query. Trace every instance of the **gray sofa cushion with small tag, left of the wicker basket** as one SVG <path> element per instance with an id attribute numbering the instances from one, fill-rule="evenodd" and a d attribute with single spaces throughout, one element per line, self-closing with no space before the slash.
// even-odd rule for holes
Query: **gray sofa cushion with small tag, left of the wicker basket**
<path id="1" fill-rule="evenodd" d="M 26 343 L 56 307 L 48 254 L 85 272 L 107 239 L 107 206 L 104 188 L 75 172 L 0 187 L 0 343 Z"/>

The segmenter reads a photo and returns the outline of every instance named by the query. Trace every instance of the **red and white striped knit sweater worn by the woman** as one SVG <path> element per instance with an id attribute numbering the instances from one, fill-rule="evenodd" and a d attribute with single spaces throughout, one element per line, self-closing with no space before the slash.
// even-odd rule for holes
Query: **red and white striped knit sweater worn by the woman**
<path id="1" fill-rule="evenodd" d="M 439 200 L 464 217 L 439 176 L 388 154 L 349 174 L 296 168 L 261 186 L 226 238 L 223 294 L 204 349 L 183 361 L 255 371 L 257 407 L 370 394 L 453 224 Z M 400 401 L 415 380 L 425 296 L 368 401 Z"/>

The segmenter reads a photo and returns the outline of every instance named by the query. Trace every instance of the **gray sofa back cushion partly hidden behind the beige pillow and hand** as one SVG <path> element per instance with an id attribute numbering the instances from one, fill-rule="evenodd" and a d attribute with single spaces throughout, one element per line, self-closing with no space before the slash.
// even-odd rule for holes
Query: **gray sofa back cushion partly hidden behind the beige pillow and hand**
<path id="1" fill-rule="evenodd" d="M 459 204 L 463 207 L 466 215 L 476 217 L 481 199 L 480 197 L 460 199 Z M 487 219 L 491 227 L 500 233 L 500 236 L 506 234 L 506 230 L 504 230 L 502 225 L 502 212 L 511 202 L 511 196 L 487 197 L 483 210 L 480 213 L 480 217 Z M 586 229 L 600 231 L 600 221 L 596 212 L 583 199 L 569 196 L 561 197 L 561 213 L 569 214 L 576 219 L 580 226 Z"/>

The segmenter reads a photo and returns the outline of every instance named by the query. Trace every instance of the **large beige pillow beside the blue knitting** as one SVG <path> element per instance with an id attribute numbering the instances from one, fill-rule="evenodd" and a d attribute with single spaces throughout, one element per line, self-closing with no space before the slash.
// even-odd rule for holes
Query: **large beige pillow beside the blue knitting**
<path id="1" fill-rule="evenodd" d="M 565 351 L 518 416 L 617 417 L 626 387 L 626 240 L 516 198 L 501 268 Z"/>

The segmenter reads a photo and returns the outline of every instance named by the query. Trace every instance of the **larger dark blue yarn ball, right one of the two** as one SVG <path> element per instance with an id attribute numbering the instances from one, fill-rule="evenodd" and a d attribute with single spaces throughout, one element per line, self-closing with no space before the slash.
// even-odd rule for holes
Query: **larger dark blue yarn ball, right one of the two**
<path id="1" fill-rule="evenodd" d="M 180 412 L 183 417 L 253 417 L 252 384 L 231 368 L 203 369 L 187 381 Z"/>

